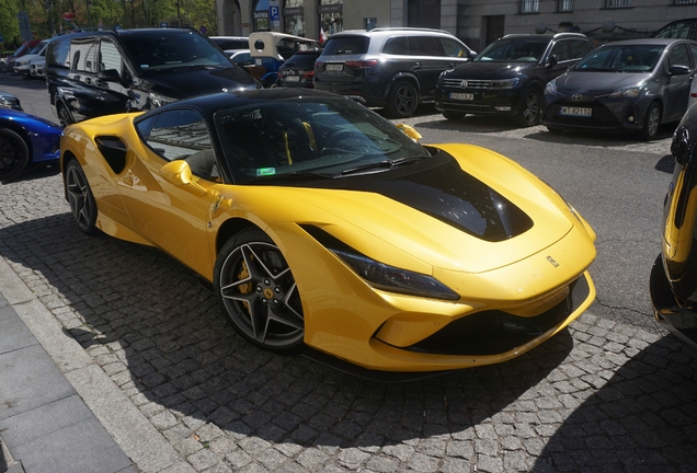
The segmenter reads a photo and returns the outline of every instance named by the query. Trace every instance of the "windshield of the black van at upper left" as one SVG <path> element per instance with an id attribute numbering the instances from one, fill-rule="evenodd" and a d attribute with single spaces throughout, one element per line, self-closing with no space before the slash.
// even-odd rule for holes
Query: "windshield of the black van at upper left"
<path id="1" fill-rule="evenodd" d="M 123 43 L 144 73 L 167 69 L 230 67 L 230 60 L 198 34 L 124 35 Z"/>

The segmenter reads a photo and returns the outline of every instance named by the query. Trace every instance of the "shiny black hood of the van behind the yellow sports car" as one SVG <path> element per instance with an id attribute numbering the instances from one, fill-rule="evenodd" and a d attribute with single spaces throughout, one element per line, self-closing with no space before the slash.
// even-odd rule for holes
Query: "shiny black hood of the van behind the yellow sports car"
<path id="1" fill-rule="evenodd" d="M 150 92 L 172 99 L 262 86 L 238 67 L 149 72 L 142 79 L 150 83 Z"/>

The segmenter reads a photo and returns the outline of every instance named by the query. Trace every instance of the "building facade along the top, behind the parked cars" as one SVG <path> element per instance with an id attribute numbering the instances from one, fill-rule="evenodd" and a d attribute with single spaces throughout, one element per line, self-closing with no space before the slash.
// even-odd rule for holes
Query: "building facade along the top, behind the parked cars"
<path id="1" fill-rule="evenodd" d="M 343 30 L 446 30 L 481 50 L 509 33 L 578 31 L 598 41 L 648 35 L 697 18 L 697 0 L 217 0 L 218 34 L 279 31 L 312 38 Z"/>

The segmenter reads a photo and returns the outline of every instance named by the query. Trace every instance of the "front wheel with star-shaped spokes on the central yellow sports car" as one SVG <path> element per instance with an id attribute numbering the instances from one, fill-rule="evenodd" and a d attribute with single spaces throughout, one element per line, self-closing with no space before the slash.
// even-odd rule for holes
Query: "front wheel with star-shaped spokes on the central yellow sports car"
<path id="1" fill-rule="evenodd" d="M 214 290 L 232 327 L 248 342 L 272 351 L 302 346 L 305 319 L 295 278 L 263 231 L 241 231 L 222 245 Z"/>

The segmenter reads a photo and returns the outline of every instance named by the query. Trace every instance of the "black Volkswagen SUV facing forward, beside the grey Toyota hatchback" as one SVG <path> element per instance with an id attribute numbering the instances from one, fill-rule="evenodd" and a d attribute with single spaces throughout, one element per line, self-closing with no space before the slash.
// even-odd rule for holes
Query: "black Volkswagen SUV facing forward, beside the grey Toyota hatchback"
<path id="1" fill-rule="evenodd" d="M 537 125 L 545 84 L 593 47 L 579 33 L 506 35 L 472 61 L 438 78 L 435 107 L 448 119 L 465 114 L 503 115 L 514 117 L 521 126 Z"/>

